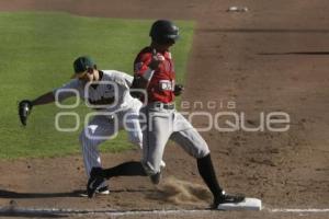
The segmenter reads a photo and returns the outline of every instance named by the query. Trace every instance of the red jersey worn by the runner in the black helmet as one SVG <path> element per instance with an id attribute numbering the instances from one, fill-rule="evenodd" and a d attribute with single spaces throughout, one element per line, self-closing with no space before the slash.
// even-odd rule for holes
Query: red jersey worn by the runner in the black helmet
<path id="1" fill-rule="evenodd" d="M 164 57 L 164 60 L 160 62 L 159 68 L 155 70 L 151 80 L 148 83 L 147 94 L 148 103 L 161 102 L 170 103 L 174 101 L 174 68 L 169 51 L 159 53 Z M 145 73 L 151 71 L 148 67 L 152 59 L 152 48 L 145 47 L 137 55 L 134 61 L 134 72 L 137 76 L 143 77 Z"/>

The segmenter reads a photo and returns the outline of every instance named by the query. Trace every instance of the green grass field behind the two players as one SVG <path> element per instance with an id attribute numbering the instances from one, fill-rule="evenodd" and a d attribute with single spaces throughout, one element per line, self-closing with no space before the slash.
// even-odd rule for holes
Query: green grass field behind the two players
<path id="1" fill-rule="evenodd" d="M 80 152 L 75 132 L 55 129 L 55 104 L 37 106 L 23 128 L 18 118 L 18 102 L 34 99 L 60 87 L 72 73 L 72 61 L 90 55 L 100 69 L 131 73 L 136 54 L 149 45 L 148 32 L 154 21 L 100 19 L 68 13 L 0 13 L 0 159 L 58 157 Z M 175 21 L 181 41 L 173 47 L 178 81 L 184 79 L 192 45 L 193 22 Z M 82 104 L 83 105 L 83 104 Z M 77 110 L 81 118 L 89 112 Z M 66 112 L 70 112 L 67 110 Z M 72 119 L 63 123 L 72 127 Z M 102 145 L 103 151 L 131 149 L 126 134 Z"/>

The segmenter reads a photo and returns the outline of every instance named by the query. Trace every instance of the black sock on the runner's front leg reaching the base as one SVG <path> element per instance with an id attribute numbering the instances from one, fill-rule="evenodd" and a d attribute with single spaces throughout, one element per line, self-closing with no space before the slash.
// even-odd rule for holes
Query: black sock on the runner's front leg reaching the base
<path id="1" fill-rule="evenodd" d="M 214 165 L 212 162 L 211 154 L 197 159 L 197 169 L 198 173 L 202 176 L 205 184 L 208 186 L 214 197 L 218 197 L 222 195 L 223 188 L 219 186 L 216 177 L 216 173 L 214 170 Z"/>

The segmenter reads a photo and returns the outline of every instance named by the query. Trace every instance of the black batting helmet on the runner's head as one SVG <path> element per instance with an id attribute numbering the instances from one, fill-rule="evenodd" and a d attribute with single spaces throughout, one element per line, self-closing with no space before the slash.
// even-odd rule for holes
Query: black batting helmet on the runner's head
<path id="1" fill-rule="evenodd" d="M 174 43 L 179 38 L 179 27 L 171 21 L 158 20 L 152 24 L 149 36 L 158 44 Z"/>

